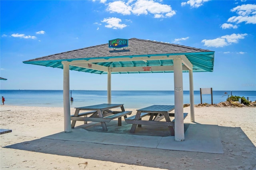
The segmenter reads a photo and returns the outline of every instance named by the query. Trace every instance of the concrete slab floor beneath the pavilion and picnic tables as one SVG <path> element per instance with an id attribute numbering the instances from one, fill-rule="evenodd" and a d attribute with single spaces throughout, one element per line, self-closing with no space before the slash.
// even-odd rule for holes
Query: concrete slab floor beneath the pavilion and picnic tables
<path id="1" fill-rule="evenodd" d="M 175 141 L 174 136 L 156 136 L 156 134 L 154 134 L 155 136 L 150 136 L 148 133 L 145 135 L 142 132 L 147 131 L 146 126 L 143 126 L 144 128 L 136 128 L 136 130 L 140 130 L 140 135 L 136 133 L 137 131 L 135 131 L 134 134 L 130 134 L 127 129 L 131 127 L 130 124 L 127 125 L 123 123 L 122 127 L 118 127 L 116 122 L 111 122 L 113 123 L 107 124 L 107 132 L 86 130 L 86 127 L 90 127 L 90 129 L 92 129 L 91 126 L 94 128 L 96 127 L 98 130 L 102 130 L 102 127 L 97 123 L 92 125 L 89 125 L 89 123 L 87 125 L 81 125 L 80 128 L 76 127 L 72 129 L 72 132 L 60 132 L 50 136 L 45 136 L 43 138 L 120 146 L 157 148 L 165 150 L 180 150 L 218 154 L 224 153 L 222 149 L 218 124 L 217 121 L 214 120 L 197 119 L 196 123 L 190 123 L 185 132 L 185 140 L 183 142 Z M 115 133 L 110 130 L 111 126 L 116 129 Z M 121 133 L 118 133 L 118 129 Z M 166 130 L 168 132 L 168 128 L 166 128 Z M 150 133 L 152 133 L 152 131 L 150 131 Z"/>

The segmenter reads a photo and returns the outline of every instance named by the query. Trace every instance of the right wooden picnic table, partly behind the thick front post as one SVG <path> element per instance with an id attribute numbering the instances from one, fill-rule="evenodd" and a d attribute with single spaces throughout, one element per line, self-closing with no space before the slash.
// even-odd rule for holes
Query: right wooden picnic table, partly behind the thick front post
<path id="1" fill-rule="evenodd" d="M 126 123 L 132 124 L 130 133 L 134 133 L 136 127 L 141 125 L 167 126 L 172 136 L 174 136 L 174 105 L 152 105 L 142 109 L 138 109 L 136 115 L 125 119 Z M 188 113 L 184 113 L 184 119 Z M 142 117 L 150 116 L 149 120 L 142 120 Z M 171 121 L 170 117 L 173 118 Z M 165 118 L 165 121 L 160 121 Z"/>

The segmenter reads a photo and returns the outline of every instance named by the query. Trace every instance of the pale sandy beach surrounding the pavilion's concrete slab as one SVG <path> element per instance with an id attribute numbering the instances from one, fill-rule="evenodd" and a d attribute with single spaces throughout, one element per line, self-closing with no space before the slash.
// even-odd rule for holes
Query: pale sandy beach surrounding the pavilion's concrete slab
<path id="1" fill-rule="evenodd" d="M 12 129 L 0 136 L 1 170 L 256 169 L 256 107 L 195 107 L 195 119 L 218 121 L 224 154 L 41 139 L 64 130 L 63 108 L 0 109 L 0 127 Z M 184 122 L 189 121 L 190 114 Z"/>

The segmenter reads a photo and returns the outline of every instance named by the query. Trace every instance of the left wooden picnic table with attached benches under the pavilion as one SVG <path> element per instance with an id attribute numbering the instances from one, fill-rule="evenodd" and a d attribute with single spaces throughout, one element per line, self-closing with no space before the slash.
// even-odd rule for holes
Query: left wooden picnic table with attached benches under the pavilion
<path id="1" fill-rule="evenodd" d="M 120 107 L 121 111 L 111 111 L 110 109 Z M 110 122 L 113 119 L 118 118 L 118 126 L 122 126 L 122 116 L 127 118 L 132 111 L 125 111 L 124 104 L 100 104 L 84 107 L 75 107 L 76 111 L 74 115 L 71 115 L 71 128 L 75 127 L 76 121 L 100 122 L 103 130 L 108 130 L 106 122 Z M 89 111 L 80 113 L 80 111 Z M 90 115 L 90 117 L 87 117 Z M 83 116 L 83 117 L 82 117 Z"/>

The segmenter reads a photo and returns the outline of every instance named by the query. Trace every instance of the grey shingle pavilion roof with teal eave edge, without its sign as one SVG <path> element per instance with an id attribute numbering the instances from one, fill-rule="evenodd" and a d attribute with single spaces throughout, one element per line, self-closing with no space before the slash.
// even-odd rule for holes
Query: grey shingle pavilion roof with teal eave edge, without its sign
<path id="1" fill-rule="evenodd" d="M 90 59 L 109 59 L 112 57 L 132 58 L 132 57 L 144 57 L 144 56 L 152 57 L 152 56 L 162 56 L 162 55 L 165 55 L 165 56 L 166 55 L 167 56 L 168 55 L 185 55 L 193 64 L 193 71 L 213 71 L 214 51 L 188 47 L 184 45 L 171 44 L 171 43 L 156 42 L 151 40 L 141 40 L 137 38 L 129 39 L 128 47 L 126 47 L 125 49 L 114 50 L 113 48 L 109 48 L 108 43 L 106 43 L 106 44 L 95 45 L 91 47 L 85 47 L 82 49 L 66 51 L 63 53 L 48 55 L 48 56 L 40 57 L 36 59 L 30 59 L 23 62 L 29 63 L 29 64 L 63 68 L 61 61 L 74 61 L 74 60 L 88 61 Z M 96 63 L 96 64 L 103 65 L 102 63 Z M 111 64 L 115 65 L 114 63 L 111 63 Z M 169 65 L 172 65 L 172 62 L 170 62 Z M 202 65 L 202 67 L 200 67 L 200 65 Z M 121 64 L 121 66 L 126 67 L 125 64 L 123 65 Z M 127 67 L 130 67 L 130 65 Z M 90 71 L 87 70 L 85 72 L 90 72 Z"/>

